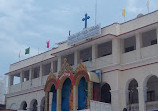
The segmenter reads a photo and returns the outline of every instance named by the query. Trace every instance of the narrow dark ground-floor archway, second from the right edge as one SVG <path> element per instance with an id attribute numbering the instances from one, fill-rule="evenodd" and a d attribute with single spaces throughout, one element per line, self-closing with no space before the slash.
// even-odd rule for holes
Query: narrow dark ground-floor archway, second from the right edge
<path id="1" fill-rule="evenodd" d="M 128 103 L 129 105 L 131 104 L 136 104 L 138 103 L 138 82 L 133 79 L 128 86 Z"/>

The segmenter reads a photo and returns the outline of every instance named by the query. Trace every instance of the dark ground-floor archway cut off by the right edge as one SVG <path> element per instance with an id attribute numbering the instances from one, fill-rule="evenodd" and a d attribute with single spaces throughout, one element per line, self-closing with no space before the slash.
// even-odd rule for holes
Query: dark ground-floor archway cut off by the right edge
<path id="1" fill-rule="evenodd" d="M 151 76 L 147 81 L 147 101 L 158 101 L 158 77 Z"/>

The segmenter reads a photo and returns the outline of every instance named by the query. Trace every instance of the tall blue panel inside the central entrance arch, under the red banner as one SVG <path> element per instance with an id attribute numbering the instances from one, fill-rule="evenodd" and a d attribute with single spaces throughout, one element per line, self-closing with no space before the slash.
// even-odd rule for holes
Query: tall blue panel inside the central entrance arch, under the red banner
<path id="1" fill-rule="evenodd" d="M 70 79 L 66 79 L 62 88 L 61 111 L 70 111 L 69 110 L 70 85 L 71 85 Z"/>

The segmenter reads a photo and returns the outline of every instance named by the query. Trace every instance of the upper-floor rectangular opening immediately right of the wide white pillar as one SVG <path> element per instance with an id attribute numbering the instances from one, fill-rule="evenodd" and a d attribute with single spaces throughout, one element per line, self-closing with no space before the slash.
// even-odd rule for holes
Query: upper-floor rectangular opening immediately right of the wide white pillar
<path id="1" fill-rule="evenodd" d="M 134 51 L 136 49 L 135 36 L 124 39 L 124 53 Z"/>

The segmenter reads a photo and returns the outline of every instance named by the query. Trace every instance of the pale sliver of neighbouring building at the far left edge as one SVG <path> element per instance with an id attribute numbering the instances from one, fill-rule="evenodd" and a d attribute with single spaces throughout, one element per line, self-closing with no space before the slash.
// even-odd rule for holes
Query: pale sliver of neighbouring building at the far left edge
<path id="1" fill-rule="evenodd" d="M 0 76 L 0 104 L 5 104 L 5 94 L 6 94 L 6 78 L 5 76 Z"/>

